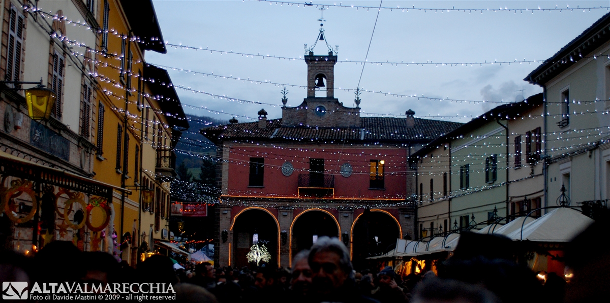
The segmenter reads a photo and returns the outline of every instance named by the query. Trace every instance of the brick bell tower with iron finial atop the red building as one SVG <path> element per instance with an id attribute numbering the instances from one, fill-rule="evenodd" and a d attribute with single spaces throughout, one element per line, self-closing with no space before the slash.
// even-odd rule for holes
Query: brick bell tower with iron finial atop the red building
<path id="1" fill-rule="evenodd" d="M 334 98 L 334 68 L 337 56 L 332 52 L 328 52 L 328 55 L 316 56 L 310 51 L 309 55 L 305 56 L 305 62 L 307 63 L 307 98 Z M 324 91 L 326 96 L 323 94 Z"/>

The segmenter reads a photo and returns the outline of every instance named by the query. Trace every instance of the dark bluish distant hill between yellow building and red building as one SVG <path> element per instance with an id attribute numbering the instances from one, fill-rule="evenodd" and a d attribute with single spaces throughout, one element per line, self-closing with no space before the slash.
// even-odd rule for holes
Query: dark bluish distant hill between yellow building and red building
<path id="1" fill-rule="evenodd" d="M 199 178 L 202 160 L 198 156 L 187 155 L 187 153 L 216 156 L 215 145 L 199 134 L 199 130 L 212 125 L 228 124 L 229 120 L 194 116 L 190 114 L 187 114 L 186 116 L 188 118 L 189 128 L 187 131 L 182 132 L 182 137 L 178 144 L 176 144 L 176 167 L 184 162 L 187 169 L 193 173 L 193 176 Z"/>

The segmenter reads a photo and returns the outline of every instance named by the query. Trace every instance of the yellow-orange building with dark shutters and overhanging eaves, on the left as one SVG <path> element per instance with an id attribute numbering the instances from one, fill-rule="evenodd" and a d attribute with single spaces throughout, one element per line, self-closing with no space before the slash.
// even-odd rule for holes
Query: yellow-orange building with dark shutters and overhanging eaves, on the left
<path id="1" fill-rule="evenodd" d="M 172 150 L 188 123 L 167 72 L 145 63 L 147 50 L 167 52 L 152 1 L 97 2 L 94 172 L 132 189 L 114 193 L 113 223 L 121 257 L 134 265 L 155 239 L 167 239 Z"/>

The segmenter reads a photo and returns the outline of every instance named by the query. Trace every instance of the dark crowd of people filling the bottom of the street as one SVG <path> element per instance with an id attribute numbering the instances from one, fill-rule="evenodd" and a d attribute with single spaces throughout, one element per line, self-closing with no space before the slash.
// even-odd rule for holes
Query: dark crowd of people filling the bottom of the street
<path id="1" fill-rule="evenodd" d="M 565 262 L 574 277 L 567 283 L 548 274 L 545 280 L 515 262 L 514 243 L 497 235 L 464 233 L 449 259 L 436 273 L 422 271 L 402 277 L 392 266 L 355 271 L 348 249 L 337 238 L 320 237 L 293 259 L 292 268 L 270 264 L 214 267 L 200 263 L 192 270 L 174 270 L 166 256 L 151 256 L 136 268 L 117 263 L 106 252 L 81 252 L 71 242 L 51 242 L 33 259 L 0 252 L 0 278 L 38 283 L 165 283 L 180 302 L 379 302 L 379 303 L 526 303 L 589 302 L 607 294 L 607 250 L 583 249 L 600 235 L 594 224 L 567 246 Z M 595 299 L 593 299 L 595 301 Z"/>

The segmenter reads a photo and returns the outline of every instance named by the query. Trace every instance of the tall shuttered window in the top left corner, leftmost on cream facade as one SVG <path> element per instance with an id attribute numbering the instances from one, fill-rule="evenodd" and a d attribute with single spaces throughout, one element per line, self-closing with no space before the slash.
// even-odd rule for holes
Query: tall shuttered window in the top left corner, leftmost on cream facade
<path id="1" fill-rule="evenodd" d="M 9 13 L 9 46 L 7 49 L 6 81 L 19 81 L 23 47 L 23 15 L 13 5 Z"/>

